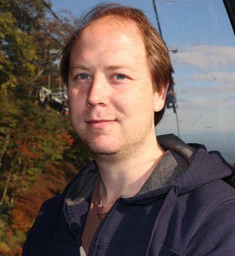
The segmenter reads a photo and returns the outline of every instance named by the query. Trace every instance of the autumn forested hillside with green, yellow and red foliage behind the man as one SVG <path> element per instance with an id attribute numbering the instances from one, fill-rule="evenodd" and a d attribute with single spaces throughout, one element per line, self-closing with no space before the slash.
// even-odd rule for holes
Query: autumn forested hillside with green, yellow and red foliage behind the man
<path id="1" fill-rule="evenodd" d="M 21 255 L 40 205 L 91 156 L 68 115 L 39 104 L 40 87 L 57 90 L 59 56 L 72 19 L 42 0 L 0 0 L 0 255 Z"/>

